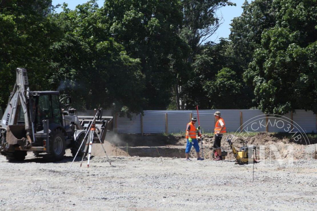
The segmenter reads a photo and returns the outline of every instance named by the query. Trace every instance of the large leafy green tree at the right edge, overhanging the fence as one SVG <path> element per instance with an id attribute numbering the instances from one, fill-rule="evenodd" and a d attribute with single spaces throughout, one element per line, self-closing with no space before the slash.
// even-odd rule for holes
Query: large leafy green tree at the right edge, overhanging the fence
<path id="1" fill-rule="evenodd" d="M 273 1 L 275 26 L 264 30 L 245 81 L 265 113 L 317 112 L 317 1 Z"/>

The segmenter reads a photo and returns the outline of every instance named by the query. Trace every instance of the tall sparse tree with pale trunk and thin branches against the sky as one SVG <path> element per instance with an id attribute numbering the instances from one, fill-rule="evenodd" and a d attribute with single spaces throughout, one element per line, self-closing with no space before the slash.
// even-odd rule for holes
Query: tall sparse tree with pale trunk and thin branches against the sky
<path id="1" fill-rule="evenodd" d="M 224 6 L 235 6 L 229 0 L 183 0 L 183 25 L 180 37 L 190 46 L 191 52 L 187 57 L 189 65 L 199 50 L 199 47 L 214 34 L 221 25 L 222 19 L 216 15 L 218 9 Z M 186 84 L 193 74 L 178 75 L 174 92 L 177 109 L 185 109 L 188 97 L 186 96 Z"/>

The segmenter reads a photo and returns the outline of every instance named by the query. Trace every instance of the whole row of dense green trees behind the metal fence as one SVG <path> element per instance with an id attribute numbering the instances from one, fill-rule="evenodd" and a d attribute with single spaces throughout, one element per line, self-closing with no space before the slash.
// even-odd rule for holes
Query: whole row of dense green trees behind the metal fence
<path id="1" fill-rule="evenodd" d="M 77 109 L 317 112 L 317 0 L 254 0 L 230 39 L 207 42 L 229 0 L 0 1 L 0 105 L 16 67 L 32 90 L 60 90 Z M 185 106 L 186 105 L 186 106 Z"/>

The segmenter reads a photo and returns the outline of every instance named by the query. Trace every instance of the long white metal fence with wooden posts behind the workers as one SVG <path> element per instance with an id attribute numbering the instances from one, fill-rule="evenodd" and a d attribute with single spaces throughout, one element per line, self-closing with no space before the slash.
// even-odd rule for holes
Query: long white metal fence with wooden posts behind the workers
<path id="1" fill-rule="evenodd" d="M 211 133 L 214 130 L 215 111 L 199 111 L 200 125 L 205 133 Z M 317 116 L 312 111 L 296 110 L 280 117 L 266 116 L 257 109 L 217 111 L 221 112 L 229 132 L 241 129 L 249 132 L 287 132 L 291 129 L 293 131 L 303 130 L 306 133 L 317 132 Z M 185 131 L 191 116 L 197 117 L 197 111 L 147 110 L 144 111 L 144 116 L 134 115 L 131 121 L 128 118 L 114 117 L 114 129 L 118 133 L 179 133 Z"/>

